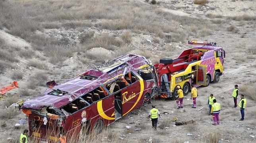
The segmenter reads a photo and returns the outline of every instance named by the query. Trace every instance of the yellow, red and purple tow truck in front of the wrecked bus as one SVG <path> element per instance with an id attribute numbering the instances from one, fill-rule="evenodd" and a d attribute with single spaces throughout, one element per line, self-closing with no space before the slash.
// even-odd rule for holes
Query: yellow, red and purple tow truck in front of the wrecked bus
<path id="1" fill-rule="evenodd" d="M 159 78 L 159 96 L 161 98 L 178 98 L 179 85 L 184 95 L 191 85 L 207 87 L 210 82 L 217 83 L 223 74 L 225 50 L 213 42 L 188 41 L 197 45 L 184 50 L 177 58 L 162 58 L 154 64 Z"/>

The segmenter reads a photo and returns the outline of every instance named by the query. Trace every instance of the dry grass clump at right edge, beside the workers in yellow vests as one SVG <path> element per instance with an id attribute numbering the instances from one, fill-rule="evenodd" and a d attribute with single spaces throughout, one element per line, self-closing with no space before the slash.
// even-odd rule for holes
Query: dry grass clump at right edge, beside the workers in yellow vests
<path id="1" fill-rule="evenodd" d="M 253 85 L 241 85 L 239 87 L 241 94 L 244 94 L 244 98 L 250 98 L 256 101 L 256 89 Z"/>

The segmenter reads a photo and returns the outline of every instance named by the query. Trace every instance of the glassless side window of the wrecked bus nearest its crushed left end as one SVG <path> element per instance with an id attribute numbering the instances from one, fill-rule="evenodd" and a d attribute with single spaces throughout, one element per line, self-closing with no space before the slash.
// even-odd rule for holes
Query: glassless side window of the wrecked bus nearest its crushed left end
<path id="1" fill-rule="evenodd" d="M 80 98 L 68 103 L 67 105 L 65 105 L 64 107 L 62 107 L 61 109 L 65 110 L 66 112 L 72 114 L 84 107 L 86 107 L 87 104 L 85 101 L 81 100 Z"/>

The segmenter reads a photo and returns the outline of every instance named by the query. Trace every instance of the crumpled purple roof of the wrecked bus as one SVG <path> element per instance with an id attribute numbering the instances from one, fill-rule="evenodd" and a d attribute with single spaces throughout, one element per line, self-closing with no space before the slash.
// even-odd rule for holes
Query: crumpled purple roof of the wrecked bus
<path id="1" fill-rule="evenodd" d="M 32 108 L 39 109 L 43 106 L 52 106 L 60 108 L 70 101 L 90 92 L 99 87 L 103 83 L 113 81 L 113 77 L 118 77 L 124 72 L 124 67 L 127 67 L 126 72 L 139 69 L 141 66 L 149 64 L 144 56 L 124 55 L 114 60 L 88 70 L 80 75 L 61 83 L 60 85 L 35 96 L 23 103 L 23 109 Z M 88 79 L 81 79 L 86 77 Z M 52 91 L 63 91 L 66 94 L 62 96 L 50 94 Z"/>

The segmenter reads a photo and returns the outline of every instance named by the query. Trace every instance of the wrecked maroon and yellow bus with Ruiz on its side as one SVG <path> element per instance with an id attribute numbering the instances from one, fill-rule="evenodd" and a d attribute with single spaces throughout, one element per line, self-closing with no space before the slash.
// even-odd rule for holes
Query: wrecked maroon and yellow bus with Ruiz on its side
<path id="1" fill-rule="evenodd" d="M 101 132 L 149 103 L 157 82 L 155 67 L 144 56 L 120 56 L 25 101 L 29 135 L 54 142 L 63 132 L 78 139 L 82 126 Z"/>

